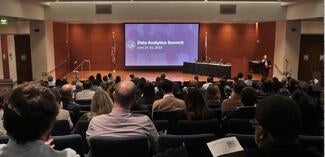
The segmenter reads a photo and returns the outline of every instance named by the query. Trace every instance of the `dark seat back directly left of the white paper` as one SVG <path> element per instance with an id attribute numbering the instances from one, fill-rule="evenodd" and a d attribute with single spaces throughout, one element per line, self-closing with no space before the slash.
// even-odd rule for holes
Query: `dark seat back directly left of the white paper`
<path id="1" fill-rule="evenodd" d="M 165 152 L 172 148 L 186 146 L 189 157 L 212 157 L 206 143 L 213 141 L 213 134 L 197 135 L 162 135 L 158 139 L 158 152 Z"/>

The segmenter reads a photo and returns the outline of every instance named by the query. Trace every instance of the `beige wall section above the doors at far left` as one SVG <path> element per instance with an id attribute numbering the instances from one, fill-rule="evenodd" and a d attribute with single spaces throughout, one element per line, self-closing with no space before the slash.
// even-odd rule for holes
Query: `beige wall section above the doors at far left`
<path id="1" fill-rule="evenodd" d="M 0 25 L 0 34 L 29 34 L 29 22 L 17 21 Z"/>

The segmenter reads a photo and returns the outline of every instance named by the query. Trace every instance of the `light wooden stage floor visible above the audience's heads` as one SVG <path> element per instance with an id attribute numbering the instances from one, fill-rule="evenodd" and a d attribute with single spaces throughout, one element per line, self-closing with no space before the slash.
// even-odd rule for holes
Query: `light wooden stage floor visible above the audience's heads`
<path id="1" fill-rule="evenodd" d="M 165 73 L 166 78 L 172 81 L 189 81 L 193 80 L 194 75 L 193 74 L 186 74 L 183 73 L 182 71 L 162 71 L 162 70 L 157 70 L 157 71 L 148 71 L 148 70 L 117 70 L 113 72 L 112 70 L 108 71 L 80 71 L 79 76 L 81 80 L 86 80 L 90 75 L 96 76 L 97 73 L 100 73 L 102 76 L 107 75 L 108 73 L 112 73 L 113 77 L 115 78 L 116 76 L 121 76 L 122 80 L 129 80 L 129 75 L 133 73 L 136 77 L 144 77 L 147 80 L 150 81 L 155 81 L 157 76 L 160 76 L 160 74 Z M 69 81 L 73 80 L 76 78 L 76 74 L 71 72 L 67 75 L 67 78 Z M 199 80 L 200 81 L 206 81 L 207 76 L 202 76 L 199 75 Z M 261 75 L 260 74 L 253 74 L 253 80 L 260 80 Z M 220 78 L 215 77 L 214 81 L 218 81 Z"/>

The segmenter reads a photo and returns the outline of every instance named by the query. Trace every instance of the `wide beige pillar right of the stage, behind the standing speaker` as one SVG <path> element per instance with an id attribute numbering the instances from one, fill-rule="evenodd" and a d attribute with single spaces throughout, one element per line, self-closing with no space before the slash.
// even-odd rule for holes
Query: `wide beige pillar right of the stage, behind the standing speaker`
<path id="1" fill-rule="evenodd" d="M 279 21 L 276 23 L 273 76 L 282 78 L 281 71 L 289 72 L 290 76 L 295 79 L 298 78 L 300 29 L 300 21 Z M 280 71 L 277 70 L 276 65 Z"/>

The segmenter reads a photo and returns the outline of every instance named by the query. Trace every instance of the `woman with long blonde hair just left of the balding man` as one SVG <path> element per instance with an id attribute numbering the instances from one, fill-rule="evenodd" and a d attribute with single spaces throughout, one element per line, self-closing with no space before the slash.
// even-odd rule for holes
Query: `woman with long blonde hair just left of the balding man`
<path id="1" fill-rule="evenodd" d="M 113 101 L 104 90 L 98 90 L 94 94 L 91 104 L 90 112 L 84 113 L 78 120 L 79 122 L 90 122 L 90 120 L 98 115 L 109 114 L 113 108 Z M 78 124 L 77 123 L 77 124 Z"/>

